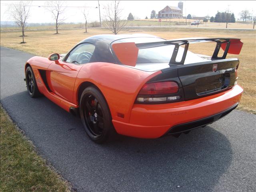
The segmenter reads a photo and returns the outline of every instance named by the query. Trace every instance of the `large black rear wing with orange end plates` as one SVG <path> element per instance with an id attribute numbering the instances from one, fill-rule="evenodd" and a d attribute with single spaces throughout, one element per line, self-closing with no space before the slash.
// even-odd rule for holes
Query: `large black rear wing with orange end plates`
<path id="1" fill-rule="evenodd" d="M 116 43 L 112 45 L 112 48 L 114 49 L 114 52 L 118 60 L 120 60 L 122 64 L 135 66 L 136 60 L 138 57 L 138 49 L 152 48 L 152 47 L 158 47 L 158 46 L 163 46 L 168 44 L 174 45 L 175 46 L 174 51 L 172 53 L 172 57 L 170 59 L 169 64 L 182 65 L 184 64 L 189 44 L 202 43 L 202 42 L 216 42 L 216 47 L 212 54 L 212 60 L 225 59 L 228 53 L 240 54 L 240 51 L 243 46 L 243 42 L 241 42 L 240 39 L 238 38 L 184 38 L 184 39 L 174 39 L 174 40 L 166 40 L 166 41 L 160 41 L 160 42 L 147 42 L 147 43 L 138 43 L 138 44 L 135 44 L 134 42 Z M 179 62 L 177 62 L 176 57 L 178 54 L 178 50 L 179 50 L 179 47 L 182 45 L 185 45 L 182 59 Z M 222 56 L 218 57 L 220 48 L 224 50 L 224 53 Z M 126 53 L 125 55 L 123 53 L 123 50 L 125 50 L 125 53 Z M 134 54 L 136 53 L 137 55 L 135 56 Z"/>

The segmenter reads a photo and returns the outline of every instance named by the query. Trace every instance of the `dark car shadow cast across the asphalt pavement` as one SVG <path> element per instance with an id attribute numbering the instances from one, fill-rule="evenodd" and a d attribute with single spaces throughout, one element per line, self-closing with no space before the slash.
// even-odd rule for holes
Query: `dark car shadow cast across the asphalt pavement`
<path id="1" fill-rule="evenodd" d="M 78 191 L 213 191 L 232 161 L 229 140 L 214 129 L 218 122 L 179 138 L 118 136 L 98 145 L 79 118 L 45 97 L 20 92 L 1 103 Z"/>

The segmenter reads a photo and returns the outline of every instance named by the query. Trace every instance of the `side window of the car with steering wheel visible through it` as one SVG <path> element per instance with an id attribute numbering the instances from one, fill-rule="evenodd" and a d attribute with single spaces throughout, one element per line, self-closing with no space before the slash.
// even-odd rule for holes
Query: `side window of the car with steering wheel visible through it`
<path id="1" fill-rule="evenodd" d="M 72 50 L 66 59 L 68 63 L 74 64 L 86 64 L 89 63 L 92 54 L 94 52 L 95 46 L 90 43 L 83 43 L 78 45 L 74 50 Z"/>

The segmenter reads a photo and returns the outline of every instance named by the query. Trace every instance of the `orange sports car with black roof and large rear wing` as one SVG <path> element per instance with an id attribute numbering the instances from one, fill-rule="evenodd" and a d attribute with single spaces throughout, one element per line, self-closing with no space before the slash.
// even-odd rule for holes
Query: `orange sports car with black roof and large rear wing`
<path id="1" fill-rule="evenodd" d="M 212 56 L 189 44 L 212 42 Z M 243 43 L 236 38 L 165 40 L 147 34 L 96 35 L 65 56 L 34 56 L 25 64 L 31 97 L 44 95 L 80 116 L 97 143 L 116 132 L 138 138 L 179 136 L 224 117 L 238 105 Z M 222 49 L 222 52 L 219 50 Z"/>

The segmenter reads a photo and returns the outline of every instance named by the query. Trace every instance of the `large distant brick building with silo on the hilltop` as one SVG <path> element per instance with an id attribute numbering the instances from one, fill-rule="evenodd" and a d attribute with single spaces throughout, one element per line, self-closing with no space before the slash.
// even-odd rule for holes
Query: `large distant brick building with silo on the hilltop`
<path id="1" fill-rule="evenodd" d="M 158 18 L 182 18 L 183 2 L 178 3 L 178 7 L 166 6 L 158 12 Z"/>

